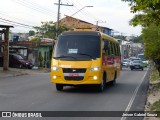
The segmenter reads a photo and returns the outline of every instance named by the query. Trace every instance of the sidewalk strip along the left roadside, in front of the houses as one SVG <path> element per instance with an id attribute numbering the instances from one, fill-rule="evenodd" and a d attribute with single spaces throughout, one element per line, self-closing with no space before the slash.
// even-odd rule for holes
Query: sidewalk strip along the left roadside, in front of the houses
<path id="1" fill-rule="evenodd" d="M 9 68 L 7 71 L 4 71 L 3 67 L 0 67 L 0 79 L 5 77 L 15 77 L 21 75 L 49 73 L 49 72 L 50 70 L 48 68 L 41 68 L 38 70 Z"/>

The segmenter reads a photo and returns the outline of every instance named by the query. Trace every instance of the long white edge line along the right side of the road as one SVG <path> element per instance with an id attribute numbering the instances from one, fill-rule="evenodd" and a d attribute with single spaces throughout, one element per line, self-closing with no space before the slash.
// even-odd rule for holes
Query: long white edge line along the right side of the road
<path id="1" fill-rule="evenodd" d="M 133 95 L 132 95 L 132 97 L 131 97 L 131 100 L 129 101 L 129 104 L 128 104 L 127 108 L 125 109 L 124 113 L 125 113 L 125 112 L 128 112 L 128 111 L 131 109 L 131 106 L 132 106 L 132 104 L 133 104 L 133 101 L 134 101 L 134 99 L 135 99 L 135 97 L 136 97 L 136 95 L 137 95 L 137 92 L 138 92 L 138 90 L 139 90 L 139 88 L 140 88 L 140 86 L 141 86 L 141 84 L 142 84 L 142 82 L 143 82 L 143 80 L 144 80 L 144 78 L 145 78 L 145 76 L 146 76 L 147 73 L 148 73 L 148 69 L 147 69 L 147 72 L 146 72 L 146 73 L 144 74 L 144 76 L 142 77 L 141 83 L 140 83 L 140 84 L 137 86 L 137 88 L 135 89 L 135 91 L 134 91 L 134 93 L 133 93 Z M 122 117 L 121 120 L 126 120 L 126 118 L 127 118 L 127 117 Z"/>

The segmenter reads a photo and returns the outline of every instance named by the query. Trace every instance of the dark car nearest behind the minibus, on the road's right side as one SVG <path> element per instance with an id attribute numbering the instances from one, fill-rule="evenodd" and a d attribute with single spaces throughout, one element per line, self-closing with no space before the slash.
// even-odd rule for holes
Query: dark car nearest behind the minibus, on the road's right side
<path id="1" fill-rule="evenodd" d="M 131 63 L 130 63 L 130 69 L 133 70 L 133 69 L 141 69 L 143 70 L 144 66 L 143 66 L 143 62 L 142 60 L 133 60 Z"/>

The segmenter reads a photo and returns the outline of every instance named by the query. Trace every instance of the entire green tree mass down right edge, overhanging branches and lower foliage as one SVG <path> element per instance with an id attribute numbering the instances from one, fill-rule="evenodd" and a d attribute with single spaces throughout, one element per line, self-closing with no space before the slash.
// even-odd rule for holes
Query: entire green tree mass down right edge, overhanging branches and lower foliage
<path id="1" fill-rule="evenodd" d="M 160 0 L 122 0 L 130 2 L 131 12 L 135 15 L 130 21 L 133 26 L 143 27 L 142 37 L 145 56 L 154 61 L 160 76 Z"/>

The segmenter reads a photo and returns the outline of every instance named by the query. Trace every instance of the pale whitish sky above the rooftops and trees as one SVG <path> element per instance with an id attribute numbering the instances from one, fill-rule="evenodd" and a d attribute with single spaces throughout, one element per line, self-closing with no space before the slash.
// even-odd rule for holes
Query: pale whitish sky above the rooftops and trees
<path id="1" fill-rule="evenodd" d="M 0 3 L 0 24 L 13 25 L 13 32 L 28 32 L 31 26 L 40 26 L 41 22 L 57 21 L 58 0 L 3 0 Z M 114 34 L 125 36 L 140 35 L 141 27 L 132 27 L 129 21 L 134 14 L 127 2 L 121 0 L 61 0 L 62 4 L 73 6 L 60 7 L 60 19 L 65 15 L 108 27 Z M 85 7 L 93 6 L 93 7 Z M 82 9 L 83 8 L 83 9 Z M 81 10 L 82 9 L 82 10 Z M 17 24 L 20 23 L 20 24 Z"/>

